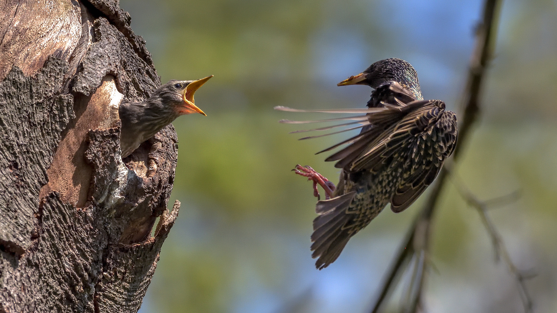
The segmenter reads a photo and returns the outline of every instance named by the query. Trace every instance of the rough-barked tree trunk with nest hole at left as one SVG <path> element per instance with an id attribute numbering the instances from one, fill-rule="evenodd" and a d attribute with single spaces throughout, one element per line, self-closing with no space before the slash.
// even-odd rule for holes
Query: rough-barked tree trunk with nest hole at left
<path id="1" fill-rule="evenodd" d="M 0 312 L 138 311 L 179 203 L 172 125 L 120 158 L 120 100 L 160 85 L 129 14 L 0 0 L 0 81 Z"/>

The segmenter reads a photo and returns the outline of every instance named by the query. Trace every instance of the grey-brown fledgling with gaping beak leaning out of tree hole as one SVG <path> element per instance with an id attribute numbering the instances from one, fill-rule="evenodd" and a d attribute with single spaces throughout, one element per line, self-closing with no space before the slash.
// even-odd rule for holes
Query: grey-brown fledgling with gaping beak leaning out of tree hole
<path id="1" fill-rule="evenodd" d="M 143 141 L 157 134 L 178 116 L 201 113 L 194 104 L 193 94 L 213 75 L 200 80 L 171 80 L 153 92 L 143 102 L 120 104 L 122 123 L 120 149 L 122 158 L 130 155 Z"/>

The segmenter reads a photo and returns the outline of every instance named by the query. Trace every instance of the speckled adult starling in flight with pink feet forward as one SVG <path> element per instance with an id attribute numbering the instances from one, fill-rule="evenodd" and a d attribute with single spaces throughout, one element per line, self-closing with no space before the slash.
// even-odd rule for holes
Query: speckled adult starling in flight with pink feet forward
<path id="1" fill-rule="evenodd" d="M 334 262 L 350 237 L 367 226 L 389 202 L 395 213 L 409 207 L 437 177 L 457 140 L 455 113 L 446 111 L 441 100 L 423 100 L 416 70 L 404 60 L 388 58 L 375 62 L 361 74 L 338 84 L 344 85 L 368 85 L 375 89 L 368 102 L 369 108 L 295 110 L 275 107 L 295 112 L 365 113 L 323 120 L 353 120 L 350 123 L 311 129 L 359 125 L 331 133 L 337 134 L 361 128 L 358 135 L 318 152 L 349 144 L 325 159 L 338 161 L 335 167 L 342 169 L 336 187 L 310 167 L 296 165 L 295 168 L 297 174 L 313 180 L 314 195 L 319 195 L 317 184 L 326 193 L 325 200 L 317 201 L 315 211 L 319 216 L 314 219 L 311 234 L 312 257 L 319 257 L 315 266 L 320 270 Z M 301 131 L 294 133 L 298 132 Z"/>

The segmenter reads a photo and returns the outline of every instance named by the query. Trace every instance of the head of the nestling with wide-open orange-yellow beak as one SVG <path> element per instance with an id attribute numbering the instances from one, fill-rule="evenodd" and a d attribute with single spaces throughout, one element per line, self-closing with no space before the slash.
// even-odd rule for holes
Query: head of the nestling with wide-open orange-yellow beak
<path id="1" fill-rule="evenodd" d="M 149 100 L 164 106 L 165 110 L 170 110 L 177 115 L 201 113 L 205 116 L 193 100 L 193 94 L 213 75 L 199 80 L 171 80 L 161 85 L 149 97 Z"/>

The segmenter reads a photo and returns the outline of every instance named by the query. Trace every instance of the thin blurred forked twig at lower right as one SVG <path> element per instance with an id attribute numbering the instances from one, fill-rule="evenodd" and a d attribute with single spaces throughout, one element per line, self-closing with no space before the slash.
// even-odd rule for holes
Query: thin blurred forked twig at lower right
<path id="1" fill-rule="evenodd" d="M 522 300 L 522 304 L 524 304 L 524 311 L 531 312 L 532 300 L 530 298 L 530 295 L 528 294 L 528 290 L 526 289 L 525 284 L 525 280 L 529 277 L 527 277 L 528 275 L 524 275 L 524 273 L 516 268 L 511 260 L 511 257 L 509 256 L 507 248 L 505 247 L 505 243 L 501 239 L 501 235 L 495 228 L 495 224 L 491 221 L 491 218 L 487 216 L 487 209 L 490 206 L 502 206 L 512 200 L 516 200 L 519 192 L 515 191 L 502 197 L 481 201 L 480 199 L 476 198 L 474 194 L 472 194 L 470 189 L 466 188 L 466 186 L 460 181 L 460 179 L 456 177 L 455 174 L 452 174 L 451 177 L 452 182 L 457 187 L 461 197 L 466 201 L 466 203 L 468 203 L 469 206 L 476 208 L 478 214 L 480 214 L 482 223 L 486 227 L 487 233 L 491 237 L 491 242 L 493 243 L 493 247 L 495 250 L 495 261 L 498 262 L 502 258 L 503 262 L 505 262 L 506 265 L 509 267 L 509 271 L 516 279 L 516 283 L 520 292 L 520 298 Z"/>

